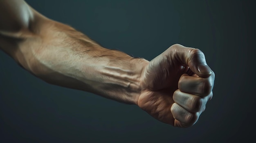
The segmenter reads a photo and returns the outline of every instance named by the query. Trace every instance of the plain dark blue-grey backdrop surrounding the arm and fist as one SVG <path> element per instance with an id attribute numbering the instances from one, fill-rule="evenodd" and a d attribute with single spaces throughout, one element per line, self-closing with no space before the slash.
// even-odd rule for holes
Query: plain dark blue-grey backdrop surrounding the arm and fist
<path id="1" fill-rule="evenodd" d="M 213 99 L 191 128 L 134 105 L 45 83 L 0 51 L 0 142 L 178 143 L 255 138 L 255 4 L 248 0 L 27 0 L 106 48 L 151 60 L 172 44 L 201 49 Z"/>

